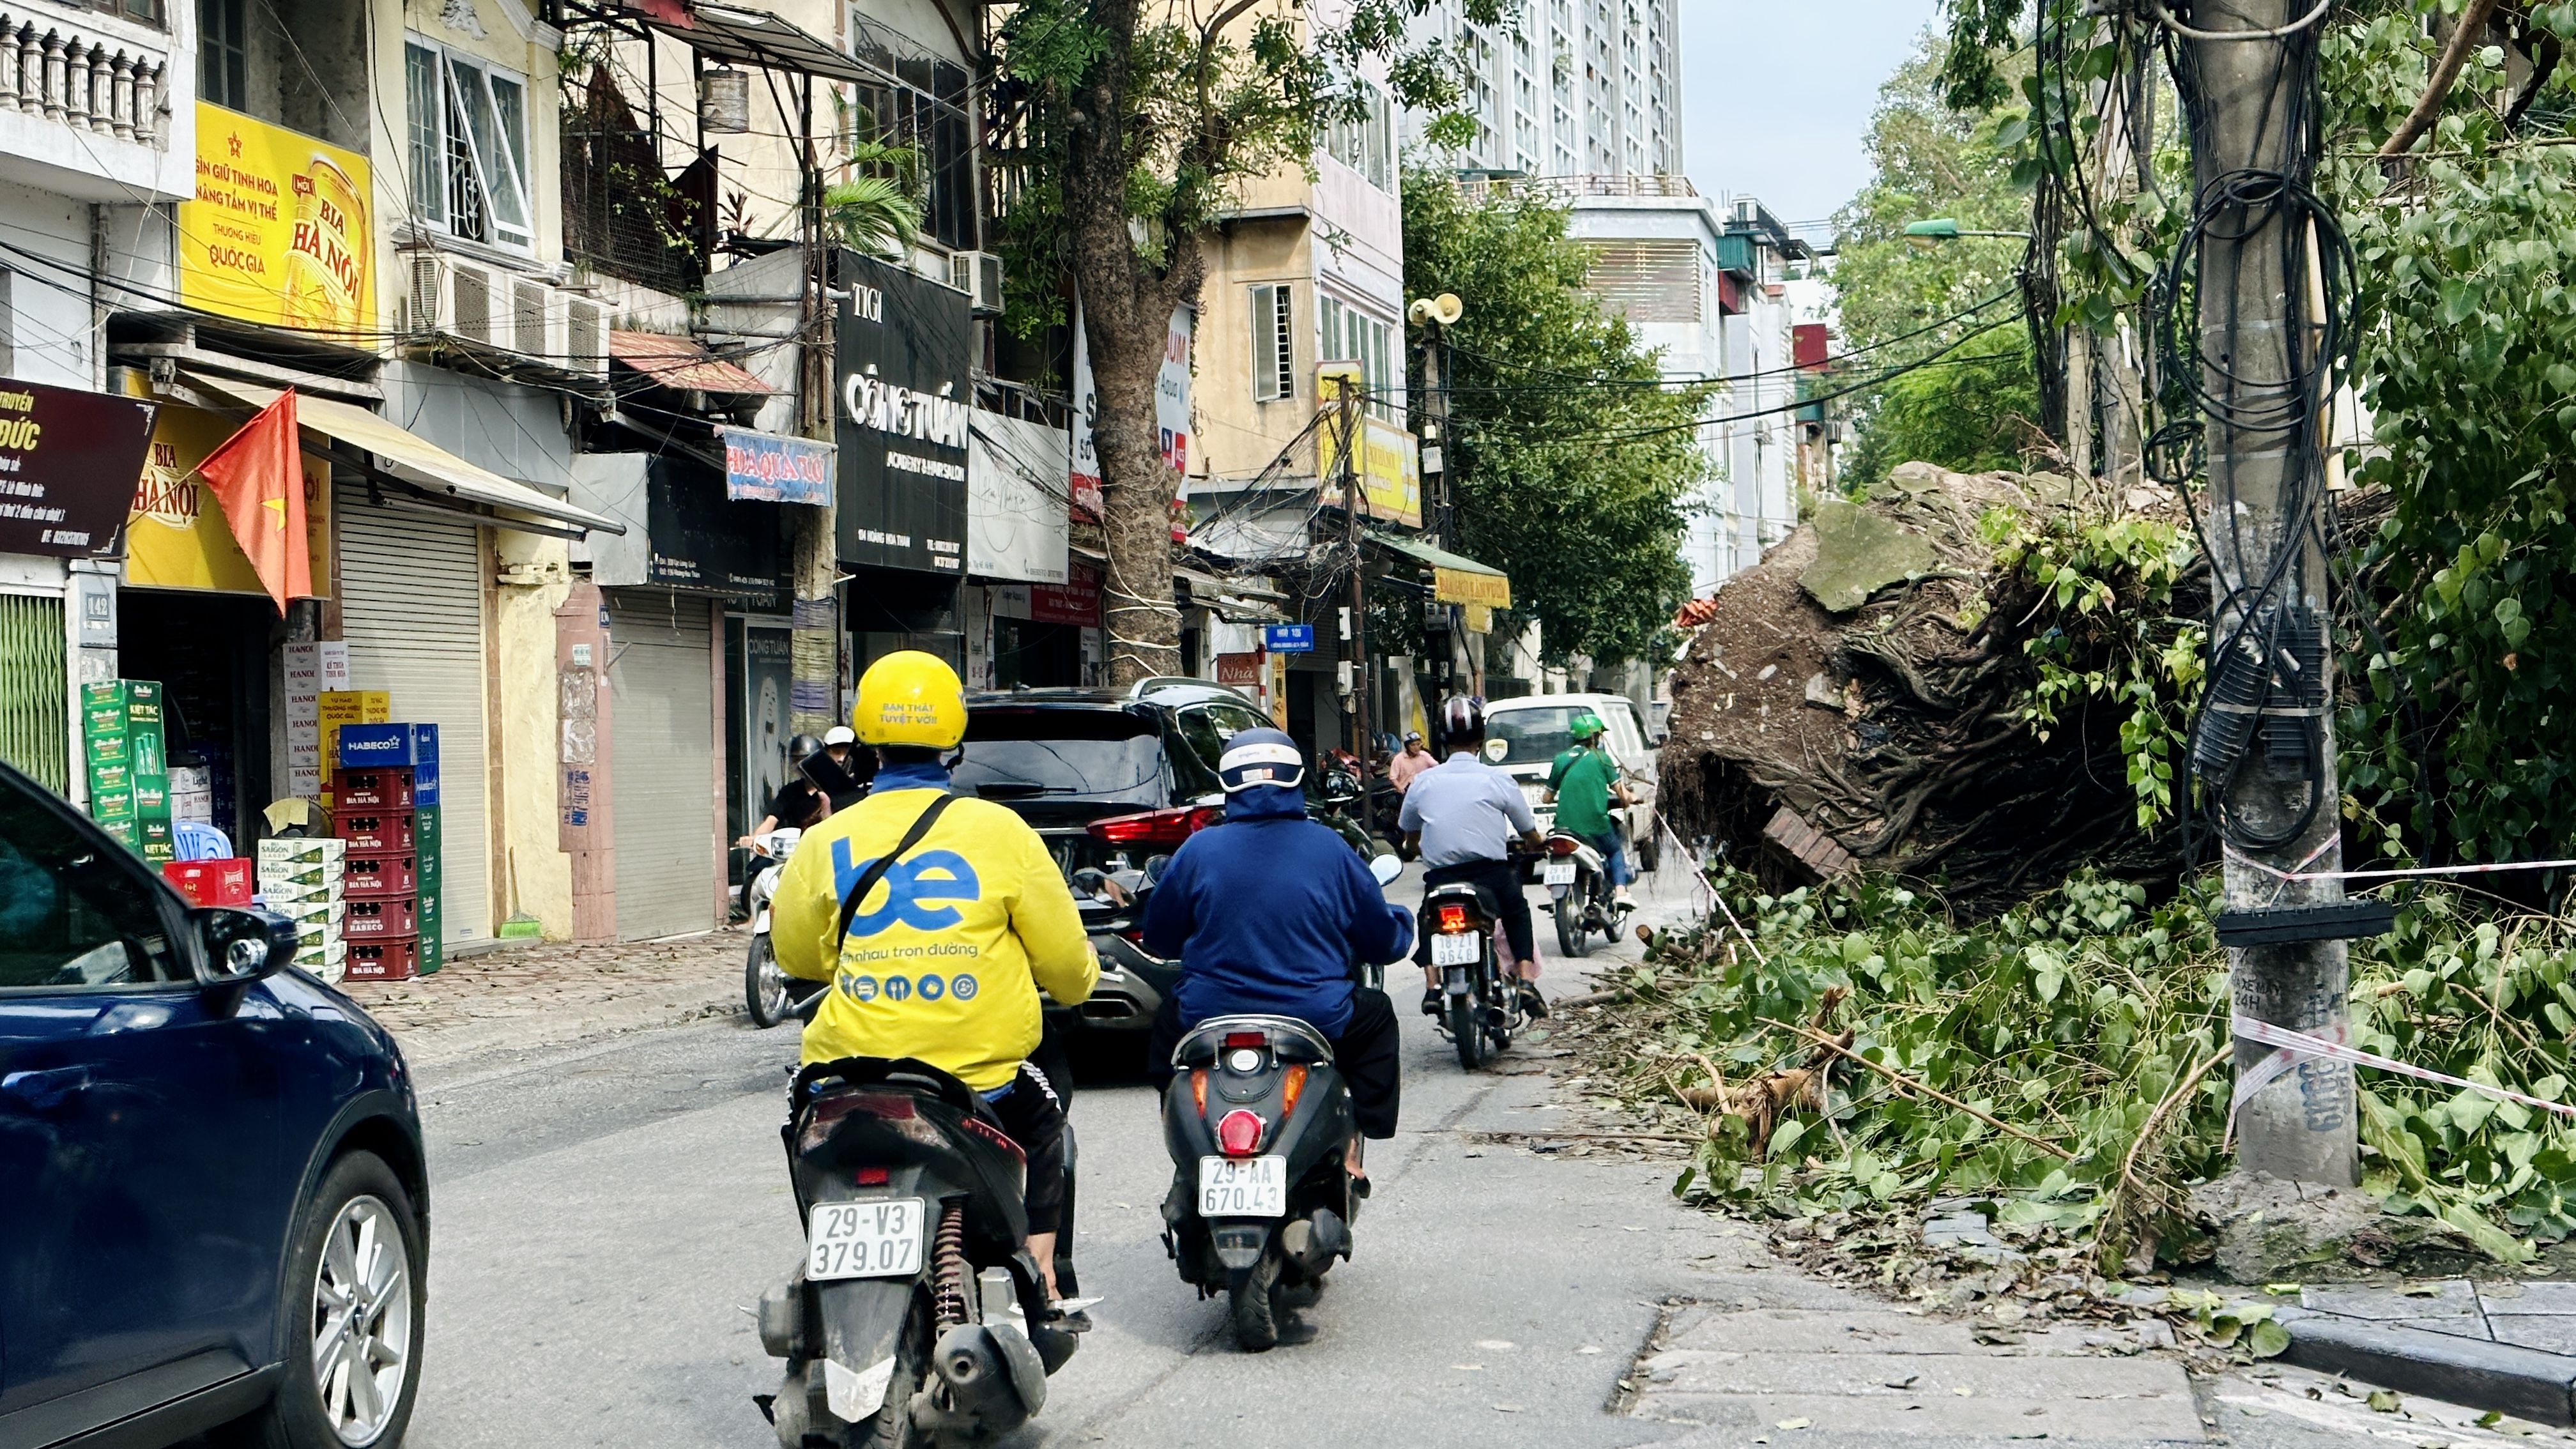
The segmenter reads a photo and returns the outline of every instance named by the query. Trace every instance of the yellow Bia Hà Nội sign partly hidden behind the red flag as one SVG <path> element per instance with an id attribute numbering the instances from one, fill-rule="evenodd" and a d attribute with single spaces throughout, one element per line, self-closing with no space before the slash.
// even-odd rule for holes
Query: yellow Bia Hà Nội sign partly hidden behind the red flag
<path id="1" fill-rule="evenodd" d="M 126 583 L 134 588 L 206 588 L 258 593 L 260 583 L 242 544 L 232 541 L 224 505 L 196 477 L 196 464 L 240 431 L 234 418 L 201 407 L 162 407 L 152 420 L 152 451 L 134 485 L 126 521 Z M 304 462 L 304 534 L 312 547 L 314 590 L 330 590 L 330 464 Z"/>

